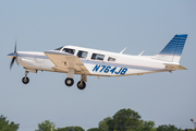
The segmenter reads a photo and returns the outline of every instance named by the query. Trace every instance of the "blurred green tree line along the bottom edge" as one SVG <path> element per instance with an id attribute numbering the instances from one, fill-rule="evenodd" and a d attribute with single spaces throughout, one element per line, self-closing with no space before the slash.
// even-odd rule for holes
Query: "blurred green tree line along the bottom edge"
<path id="1" fill-rule="evenodd" d="M 9 122 L 7 117 L 0 117 L 0 131 L 17 131 L 19 123 Z M 38 123 L 38 129 L 35 131 L 85 131 L 82 127 L 71 126 L 64 128 L 56 128 L 56 124 L 50 120 L 45 120 Z M 120 109 L 112 117 L 107 117 L 99 121 L 98 128 L 90 128 L 87 131 L 196 131 L 193 129 L 179 129 L 172 124 L 162 124 L 155 127 L 155 122 L 142 119 L 138 112 L 132 109 Z"/>

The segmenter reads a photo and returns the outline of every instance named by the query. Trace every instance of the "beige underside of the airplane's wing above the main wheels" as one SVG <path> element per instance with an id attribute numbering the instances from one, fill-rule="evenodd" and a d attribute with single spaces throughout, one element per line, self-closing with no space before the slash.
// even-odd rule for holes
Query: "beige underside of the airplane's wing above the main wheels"
<path id="1" fill-rule="evenodd" d="M 56 64 L 54 70 L 69 72 L 69 69 L 74 69 L 76 74 L 89 74 L 89 71 L 77 56 L 59 52 L 58 50 L 45 51 L 45 55 Z"/>

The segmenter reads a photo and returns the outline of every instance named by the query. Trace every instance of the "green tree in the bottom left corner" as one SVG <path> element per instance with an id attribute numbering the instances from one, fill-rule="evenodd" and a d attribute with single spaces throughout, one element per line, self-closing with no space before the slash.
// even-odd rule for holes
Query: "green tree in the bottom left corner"
<path id="1" fill-rule="evenodd" d="M 9 123 L 7 117 L 0 116 L 0 131 L 17 131 L 20 124 L 15 124 L 13 121 Z"/>

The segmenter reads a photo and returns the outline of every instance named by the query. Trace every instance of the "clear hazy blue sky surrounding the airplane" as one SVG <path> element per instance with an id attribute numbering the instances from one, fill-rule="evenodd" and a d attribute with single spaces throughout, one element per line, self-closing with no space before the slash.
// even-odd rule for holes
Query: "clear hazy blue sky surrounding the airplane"
<path id="1" fill-rule="evenodd" d="M 196 1 L 195 0 L 1 0 L 0 115 L 34 131 L 50 120 L 57 128 L 85 130 L 123 108 L 137 111 L 156 127 L 193 128 L 196 121 Z M 157 55 L 175 34 L 188 34 L 181 64 L 188 70 L 122 78 L 88 76 L 87 87 L 64 85 L 66 74 L 10 71 L 17 51 L 45 51 L 65 45 L 144 56 Z M 75 83 L 79 75 L 74 75 Z"/>

